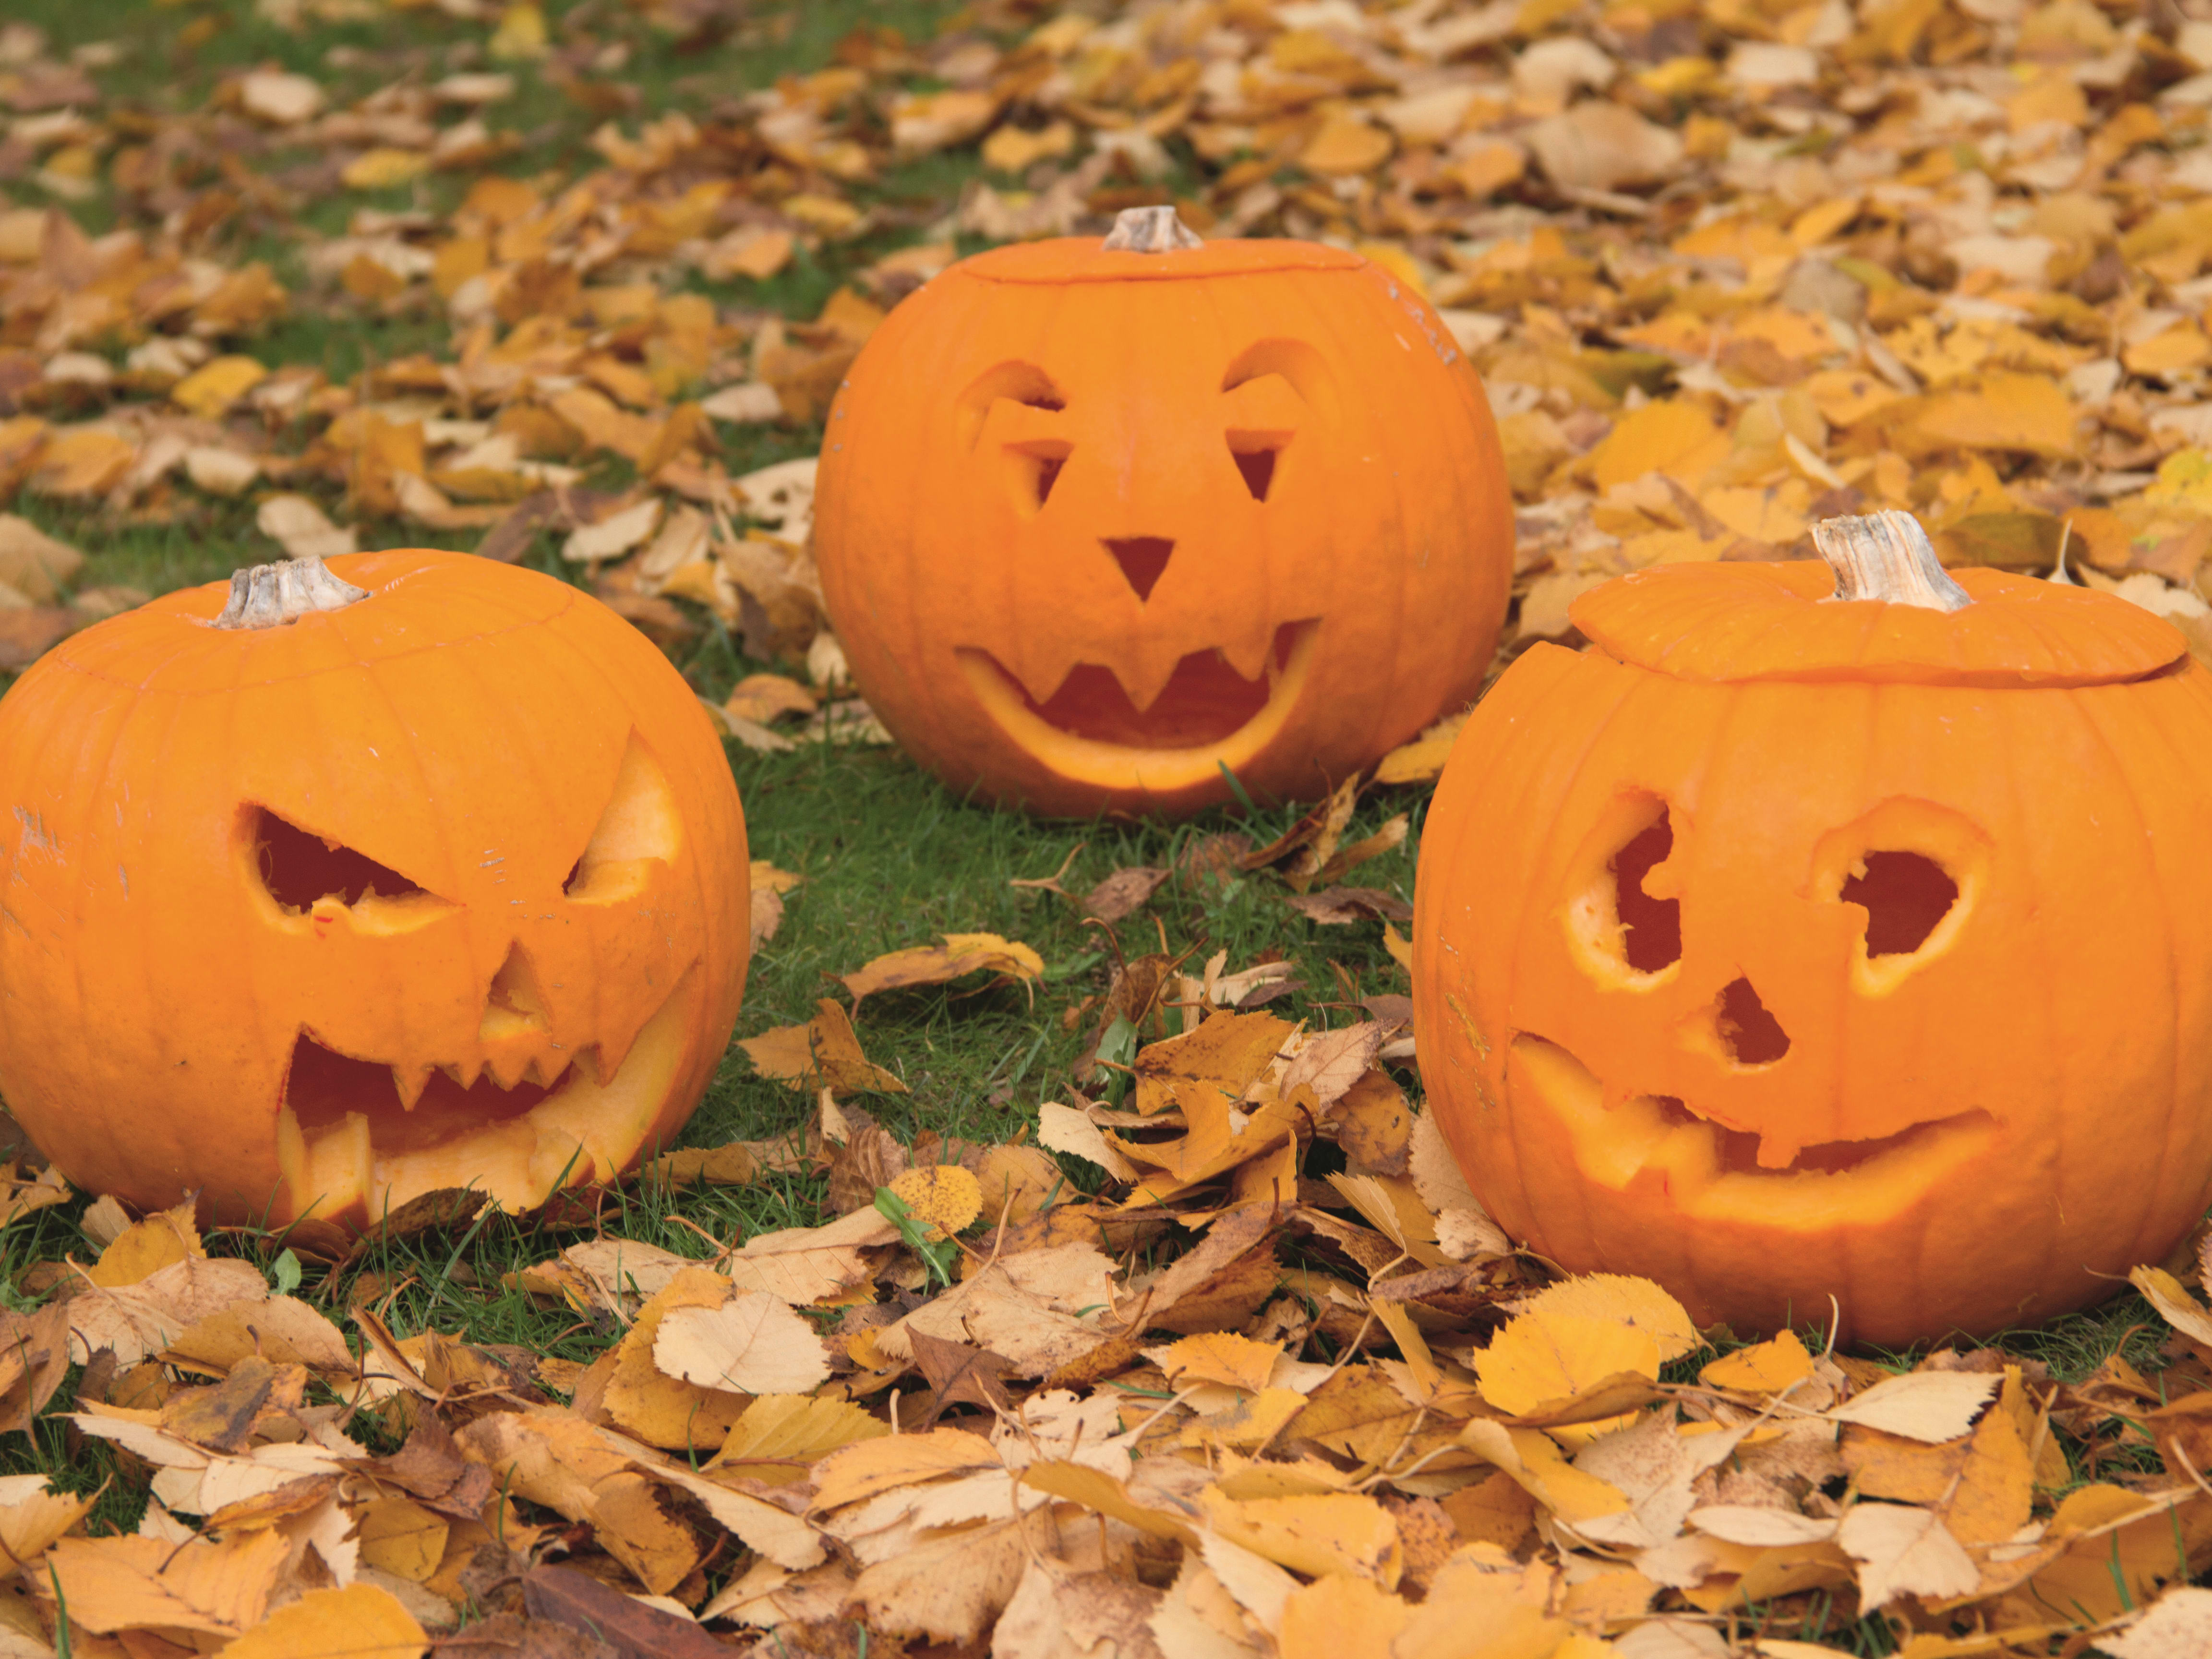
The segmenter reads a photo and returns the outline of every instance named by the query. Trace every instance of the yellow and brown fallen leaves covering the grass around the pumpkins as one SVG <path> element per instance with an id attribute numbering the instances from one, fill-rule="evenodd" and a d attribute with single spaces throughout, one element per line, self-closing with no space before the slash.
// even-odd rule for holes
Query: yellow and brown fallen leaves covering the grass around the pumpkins
<path id="1" fill-rule="evenodd" d="M 385 7 L 259 11 L 314 40 Z M 710 703 L 734 741 L 880 741 L 825 628 L 812 462 L 723 458 L 807 434 L 960 248 L 1175 197 L 1208 237 L 1356 246 L 1440 307 L 1515 491 L 1504 655 L 1568 637 L 1599 580 L 1796 555 L 1812 520 L 1871 507 L 1920 513 L 1949 562 L 2110 588 L 2212 650 L 2212 22 L 2188 4 L 987 0 L 650 111 L 622 80 L 628 22 L 710 53 L 732 9 L 438 11 L 469 46 L 451 73 L 354 95 L 332 53 L 327 80 L 243 69 L 173 113 L 104 93 L 122 46 L 0 27 L 0 507 L 186 531 L 250 509 L 285 553 L 480 538 L 672 648 L 726 630 L 763 666 Z M 502 173 L 538 86 L 593 117 L 588 159 Z M 885 188 L 947 157 L 971 175 L 920 217 Z M 434 186 L 416 199 L 449 208 L 369 197 Z M 93 234 L 100 192 L 115 228 Z M 343 197 L 343 228 L 299 219 L 310 195 Z M 283 223 L 296 270 L 241 254 L 237 223 Z M 754 303 L 801 265 L 845 281 L 807 316 Z M 358 374 L 281 338 L 400 316 L 425 345 Z M 0 666 L 146 597 L 97 568 L 0 515 Z M 1402 962 L 1402 894 L 1345 878 L 1411 816 L 1345 834 L 1367 790 L 1433 781 L 1458 719 L 1270 845 L 1197 838 L 1068 898 L 1113 925 L 1170 880 L 1252 876 L 1325 927 L 1380 922 Z M 765 947 L 799 878 L 752 876 Z M 0 1310 L 0 1431 L 106 1447 L 150 1502 L 117 1533 L 11 1475 L 0 1639 L 2201 1648 L 2197 1265 L 2135 1274 L 2168 1325 L 2157 1365 L 2130 1349 L 2073 1383 L 2004 1347 L 1898 1374 L 1816 1334 L 1736 1347 L 1655 1285 L 1513 1250 L 1409 1093 L 1413 1037 L 1378 1006 L 1400 987 L 1321 1009 L 1290 962 L 1232 969 L 1166 925 L 1071 1006 L 1095 1064 L 1053 1084 L 1035 1139 L 900 1137 L 856 1097 L 918 1073 L 880 1015 L 867 1046 L 898 1071 L 863 1051 L 863 1002 L 1046 978 L 1002 933 L 938 938 L 843 973 L 852 1011 L 825 998 L 745 1040 L 803 1126 L 666 1152 L 637 1183 L 816 1179 L 830 1214 L 701 1230 L 703 1254 L 624 1237 L 624 1194 L 549 1214 L 593 1237 L 502 1292 L 580 1321 L 591 1358 L 403 1336 L 367 1301 L 341 1323 L 210 1254 L 190 1210 L 93 1203 L 97 1256 L 40 1263 L 44 1305 Z M 71 1199 L 15 1166 L 4 1225 Z M 480 1201 L 436 1199 L 380 1237 L 476 1225 Z M 312 1228 L 288 1245 L 363 1261 Z"/>

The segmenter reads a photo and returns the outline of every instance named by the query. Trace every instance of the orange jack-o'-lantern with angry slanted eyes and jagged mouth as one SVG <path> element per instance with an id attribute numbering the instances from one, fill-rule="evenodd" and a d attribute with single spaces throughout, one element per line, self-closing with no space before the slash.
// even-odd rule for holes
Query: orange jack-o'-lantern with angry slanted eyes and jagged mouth
<path id="1" fill-rule="evenodd" d="M 0 699 L 0 1097 L 80 1186 L 361 1225 L 613 1179 L 737 1020 L 745 821 L 684 677 L 577 588 L 241 571 Z"/>

